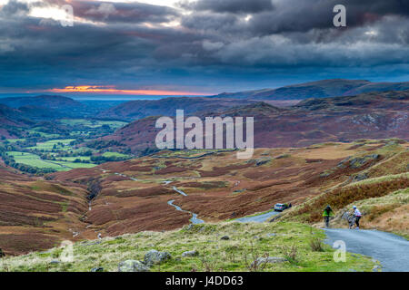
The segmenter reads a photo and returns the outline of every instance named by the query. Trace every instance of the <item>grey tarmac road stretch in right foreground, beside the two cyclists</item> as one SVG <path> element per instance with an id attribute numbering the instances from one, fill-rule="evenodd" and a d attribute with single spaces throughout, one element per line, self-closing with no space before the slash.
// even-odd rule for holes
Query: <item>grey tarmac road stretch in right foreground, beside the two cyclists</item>
<path id="1" fill-rule="evenodd" d="M 384 272 L 409 272 L 409 241 L 404 237 L 378 230 L 326 228 L 325 243 L 333 245 L 342 240 L 346 251 L 372 256 L 382 265 Z"/>

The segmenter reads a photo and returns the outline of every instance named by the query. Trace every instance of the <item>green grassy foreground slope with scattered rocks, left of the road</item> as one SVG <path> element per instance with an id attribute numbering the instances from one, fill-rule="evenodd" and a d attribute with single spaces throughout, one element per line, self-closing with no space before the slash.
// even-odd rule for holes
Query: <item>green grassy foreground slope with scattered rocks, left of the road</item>
<path id="1" fill-rule="evenodd" d="M 323 231 L 296 223 L 205 224 L 163 233 L 141 232 L 78 242 L 73 247 L 73 260 L 68 263 L 60 262 L 63 249 L 57 247 L 42 253 L 5 257 L 0 259 L 0 271 L 126 272 L 133 270 L 125 266 L 129 264 L 136 265 L 141 272 L 374 269 L 376 263 L 370 257 L 350 253 L 346 254 L 345 263 L 335 263 L 334 249 L 326 245 L 320 250 L 311 247 L 312 241 L 322 239 Z M 162 261 L 151 262 L 152 254 L 148 253 L 152 250 L 164 253 Z"/>

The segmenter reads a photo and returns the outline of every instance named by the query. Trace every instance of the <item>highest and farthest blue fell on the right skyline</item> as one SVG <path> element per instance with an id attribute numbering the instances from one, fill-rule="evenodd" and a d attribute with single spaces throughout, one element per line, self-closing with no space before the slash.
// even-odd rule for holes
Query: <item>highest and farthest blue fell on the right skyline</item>
<path id="1" fill-rule="evenodd" d="M 215 98 L 246 100 L 304 100 L 351 96 L 364 92 L 386 92 L 409 90 L 409 82 L 369 82 L 364 80 L 324 80 L 288 85 L 278 89 L 264 89 L 247 92 L 224 92 Z"/>

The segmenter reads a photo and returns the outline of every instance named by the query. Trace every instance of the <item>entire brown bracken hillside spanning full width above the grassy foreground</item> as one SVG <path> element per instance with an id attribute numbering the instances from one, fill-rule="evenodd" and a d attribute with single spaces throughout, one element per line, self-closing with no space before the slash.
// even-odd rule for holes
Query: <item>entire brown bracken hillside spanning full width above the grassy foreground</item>
<path id="1" fill-rule="evenodd" d="M 406 236 L 408 148 L 403 140 L 358 140 L 257 149 L 252 160 L 225 150 L 161 151 L 45 179 L 2 170 L 0 248 L 23 254 L 63 239 L 176 230 L 268 212 L 284 202 L 294 205 L 284 219 L 319 226 L 323 205 L 340 215 L 356 203 L 367 215 L 363 228 Z M 382 198 L 385 207 L 368 198 Z M 390 205 L 401 210 L 399 218 L 390 218 Z"/>

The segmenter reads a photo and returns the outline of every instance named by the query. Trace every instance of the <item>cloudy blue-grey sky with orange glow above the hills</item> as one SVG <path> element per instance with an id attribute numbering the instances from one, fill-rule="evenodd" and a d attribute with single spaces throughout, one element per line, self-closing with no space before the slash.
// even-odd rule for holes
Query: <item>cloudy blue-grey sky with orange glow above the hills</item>
<path id="1" fill-rule="evenodd" d="M 334 27 L 338 4 L 346 27 Z M 407 0 L 0 0 L 0 24 L 0 94 L 409 81 Z"/>

